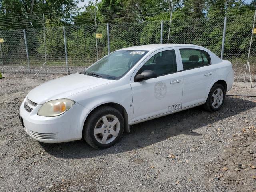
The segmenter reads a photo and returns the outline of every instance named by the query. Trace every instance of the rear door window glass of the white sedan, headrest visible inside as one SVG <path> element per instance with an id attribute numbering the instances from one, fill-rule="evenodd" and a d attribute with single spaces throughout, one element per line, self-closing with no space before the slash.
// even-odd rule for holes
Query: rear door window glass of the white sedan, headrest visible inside
<path id="1" fill-rule="evenodd" d="M 202 54 L 201 54 L 202 53 Z M 210 64 L 208 53 L 195 49 L 180 49 L 183 69 L 192 69 Z"/>

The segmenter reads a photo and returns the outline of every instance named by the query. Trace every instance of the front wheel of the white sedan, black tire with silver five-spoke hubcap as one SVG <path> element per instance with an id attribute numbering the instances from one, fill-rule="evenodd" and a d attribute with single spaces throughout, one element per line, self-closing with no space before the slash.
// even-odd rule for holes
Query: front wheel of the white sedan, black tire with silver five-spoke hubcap
<path id="1" fill-rule="evenodd" d="M 84 124 L 83 138 L 93 148 L 113 146 L 124 132 L 124 118 L 113 107 L 102 106 L 89 115 Z"/>

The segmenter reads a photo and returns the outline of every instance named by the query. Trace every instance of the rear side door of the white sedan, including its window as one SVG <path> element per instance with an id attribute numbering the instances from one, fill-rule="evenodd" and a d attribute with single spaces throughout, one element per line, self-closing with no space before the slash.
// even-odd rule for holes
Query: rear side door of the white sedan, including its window
<path id="1" fill-rule="evenodd" d="M 178 49 L 183 68 L 182 108 L 186 108 L 205 101 L 214 70 L 206 51 L 193 47 Z"/>

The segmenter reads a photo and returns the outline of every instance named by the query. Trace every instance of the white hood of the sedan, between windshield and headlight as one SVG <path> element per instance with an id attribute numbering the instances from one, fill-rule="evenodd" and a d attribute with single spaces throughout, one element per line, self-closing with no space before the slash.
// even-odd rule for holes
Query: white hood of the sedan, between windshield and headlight
<path id="1" fill-rule="evenodd" d="M 68 98 L 68 96 L 78 92 L 113 81 L 76 73 L 56 78 L 37 86 L 28 93 L 28 99 L 37 104 L 44 104 L 49 100 Z"/>

